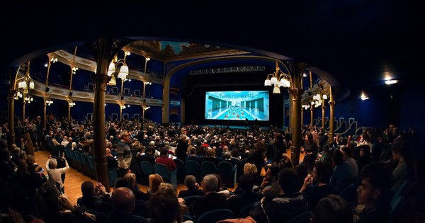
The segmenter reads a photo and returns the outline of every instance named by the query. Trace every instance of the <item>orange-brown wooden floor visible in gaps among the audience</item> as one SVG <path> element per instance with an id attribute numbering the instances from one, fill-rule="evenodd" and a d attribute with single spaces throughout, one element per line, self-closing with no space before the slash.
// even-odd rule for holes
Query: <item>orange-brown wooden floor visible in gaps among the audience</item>
<path id="1" fill-rule="evenodd" d="M 41 165 L 43 168 L 45 168 L 45 164 L 46 161 L 48 159 L 48 156 L 50 155 L 49 151 L 35 151 L 35 162 L 39 165 Z M 290 150 L 288 150 L 288 156 L 290 156 Z M 302 161 L 304 157 L 304 154 L 301 154 L 300 156 L 300 161 Z M 47 173 L 45 173 L 47 174 Z M 261 172 L 261 175 L 265 175 L 264 173 L 264 169 Z M 91 179 L 88 176 L 85 176 L 83 173 L 77 171 L 74 168 L 69 168 L 69 171 L 67 171 L 66 173 L 66 178 L 65 178 L 65 182 L 64 182 L 64 188 L 65 188 L 65 193 L 67 194 L 68 198 L 69 198 L 69 202 L 71 202 L 72 205 L 76 205 L 77 204 L 77 199 L 81 198 L 81 183 L 83 183 L 84 181 L 91 181 L 96 183 L 96 180 Z M 140 190 L 142 190 L 143 192 L 147 192 L 147 185 L 141 185 L 138 184 Z M 179 184 L 177 185 L 177 193 L 179 193 L 179 191 L 181 189 L 186 188 L 185 185 L 183 184 Z M 234 188 L 228 188 L 230 191 L 233 191 Z"/>

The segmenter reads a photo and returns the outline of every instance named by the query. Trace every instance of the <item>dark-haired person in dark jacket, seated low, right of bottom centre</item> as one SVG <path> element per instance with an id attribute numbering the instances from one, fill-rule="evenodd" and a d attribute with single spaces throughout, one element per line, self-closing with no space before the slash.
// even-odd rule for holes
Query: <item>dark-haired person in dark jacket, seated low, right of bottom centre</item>
<path id="1" fill-rule="evenodd" d="M 293 168 L 284 168 L 278 174 L 280 195 L 266 196 L 261 206 L 249 212 L 256 222 L 286 222 L 307 211 L 307 201 L 302 197 L 302 179 Z"/>

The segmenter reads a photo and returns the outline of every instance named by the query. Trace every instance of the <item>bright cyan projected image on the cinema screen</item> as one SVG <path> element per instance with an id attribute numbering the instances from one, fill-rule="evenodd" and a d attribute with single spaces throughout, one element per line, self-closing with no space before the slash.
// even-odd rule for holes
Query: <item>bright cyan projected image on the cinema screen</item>
<path id="1" fill-rule="evenodd" d="M 205 119 L 268 121 L 268 91 L 207 91 Z"/>

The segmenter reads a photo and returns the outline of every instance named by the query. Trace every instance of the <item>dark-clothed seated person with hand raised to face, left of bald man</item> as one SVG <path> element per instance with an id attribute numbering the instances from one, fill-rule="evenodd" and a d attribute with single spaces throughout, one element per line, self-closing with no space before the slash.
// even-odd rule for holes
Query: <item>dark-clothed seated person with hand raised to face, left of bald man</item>
<path id="1" fill-rule="evenodd" d="M 113 207 L 110 203 L 110 196 L 106 193 L 105 187 L 98 183 L 96 185 L 99 195 L 96 195 L 94 184 L 91 181 L 81 183 L 81 193 L 83 196 L 78 198 L 77 204 L 85 207 L 87 210 L 96 212 L 111 212 Z"/>

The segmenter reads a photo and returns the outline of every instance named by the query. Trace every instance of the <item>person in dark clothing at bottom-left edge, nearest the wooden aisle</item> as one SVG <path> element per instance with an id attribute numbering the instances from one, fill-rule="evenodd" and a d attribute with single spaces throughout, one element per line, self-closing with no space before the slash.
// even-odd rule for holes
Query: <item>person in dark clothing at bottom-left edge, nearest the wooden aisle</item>
<path id="1" fill-rule="evenodd" d="M 40 215 L 46 223 L 93 222 L 95 215 L 72 206 L 66 195 L 60 193 L 56 185 L 50 181 L 42 184 L 37 195 Z"/>

